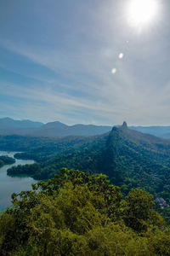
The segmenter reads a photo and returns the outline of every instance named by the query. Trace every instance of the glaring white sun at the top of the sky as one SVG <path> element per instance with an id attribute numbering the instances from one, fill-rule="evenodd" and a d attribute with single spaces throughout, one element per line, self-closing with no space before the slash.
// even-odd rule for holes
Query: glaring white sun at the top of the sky
<path id="1" fill-rule="evenodd" d="M 156 0 L 130 0 L 127 6 L 127 21 L 129 26 L 142 28 L 150 25 L 157 13 Z"/>

